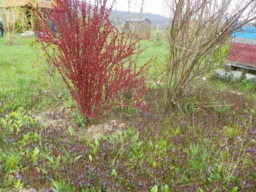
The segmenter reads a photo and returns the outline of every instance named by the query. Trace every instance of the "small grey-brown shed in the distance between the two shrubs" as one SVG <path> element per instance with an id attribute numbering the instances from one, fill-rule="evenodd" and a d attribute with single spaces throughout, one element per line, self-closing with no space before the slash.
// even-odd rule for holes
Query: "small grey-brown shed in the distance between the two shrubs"
<path id="1" fill-rule="evenodd" d="M 126 32 L 131 32 L 135 38 L 150 38 L 151 21 L 148 19 L 126 20 Z"/>

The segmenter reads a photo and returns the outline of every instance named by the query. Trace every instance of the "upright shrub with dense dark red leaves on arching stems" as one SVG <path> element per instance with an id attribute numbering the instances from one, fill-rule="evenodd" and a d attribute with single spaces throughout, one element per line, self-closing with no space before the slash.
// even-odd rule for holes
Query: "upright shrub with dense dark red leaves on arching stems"
<path id="1" fill-rule="evenodd" d="M 111 11 L 107 0 L 62 0 L 46 10 L 47 18 L 35 10 L 42 50 L 55 52 L 49 58 L 87 118 L 114 106 L 144 108 L 147 64 L 136 68 L 142 49 L 137 49 L 139 41 L 128 40 L 124 29 L 112 24 Z"/>

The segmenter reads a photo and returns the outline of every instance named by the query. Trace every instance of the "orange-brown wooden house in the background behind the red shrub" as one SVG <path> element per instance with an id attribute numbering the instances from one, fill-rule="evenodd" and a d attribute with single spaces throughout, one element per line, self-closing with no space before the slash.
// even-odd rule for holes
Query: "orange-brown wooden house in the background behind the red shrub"
<path id="1" fill-rule="evenodd" d="M 37 29 L 36 20 L 31 10 L 38 4 L 42 8 L 42 13 L 47 8 L 52 8 L 53 4 L 58 6 L 58 0 L 2 0 L 0 8 L 4 9 L 4 22 L 6 26 L 12 27 L 16 22 L 26 22 L 26 29 L 35 31 Z"/>

